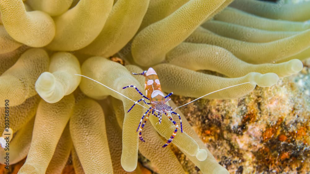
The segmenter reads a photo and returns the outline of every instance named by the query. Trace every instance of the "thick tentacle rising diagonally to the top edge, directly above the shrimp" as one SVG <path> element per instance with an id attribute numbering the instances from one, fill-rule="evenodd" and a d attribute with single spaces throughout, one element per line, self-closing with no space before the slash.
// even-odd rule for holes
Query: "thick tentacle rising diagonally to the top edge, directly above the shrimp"
<path id="1" fill-rule="evenodd" d="M 131 45 L 135 62 L 151 66 L 162 62 L 168 51 L 184 41 L 225 0 L 191 0 L 168 17 L 139 32 Z"/>

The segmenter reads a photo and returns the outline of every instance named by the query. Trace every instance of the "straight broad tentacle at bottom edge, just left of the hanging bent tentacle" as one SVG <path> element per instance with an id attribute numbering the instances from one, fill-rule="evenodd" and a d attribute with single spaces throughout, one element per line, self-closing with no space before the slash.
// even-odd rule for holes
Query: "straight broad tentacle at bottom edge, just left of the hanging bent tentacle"
<path id="1" fill-rule="evenodd" d="M 84 98 L 75 105 L 70 134 L 85 173 L 113 173 L 104 113 L 95 100 Z"/>

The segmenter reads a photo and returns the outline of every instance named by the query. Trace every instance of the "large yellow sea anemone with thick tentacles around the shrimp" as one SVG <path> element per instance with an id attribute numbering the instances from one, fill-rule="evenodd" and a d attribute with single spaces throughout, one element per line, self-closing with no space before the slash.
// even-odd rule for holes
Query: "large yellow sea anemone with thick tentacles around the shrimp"
<path id="1" fill-rule="evenodd" d="M 300 4 L 231 3 L 0 0 L 0 113 L 9 113 L 0 118 L 2 146 L 6 126 L 11 128 L 10 152 L 0 149 L 0 162 L 27 156 L 19 173 L 60 173 L 71 154 L 76 173 L 141 173 L 139 150 L 155 172 L 185 173 L 176 155 L 180 150 L 202 173 L 228 173 L 179 110 L 184 132 L 173 140 L 179 150 L 161 147 L 175 129 L 166 118 L 158 124 L 149 117 L 146 142 L 139 143 L 136 129 L 144 108 L 127 112 L 133 102 L 122 95 L 141 99 L 135 89 L 123 87 L 144 91 L 145 79 L 130 72 L 150 66 L 164 92 L 181 96 L 197 98 L 245 83 L 205 99 L 239 98 L 303 69 L 310 24 L 300 22 L 308 20 L 306 12 L 294 10 Z M 302 3 L 309 10 L 308 2 Z M 282 18 L 287 10 L 290 15 Z"/>

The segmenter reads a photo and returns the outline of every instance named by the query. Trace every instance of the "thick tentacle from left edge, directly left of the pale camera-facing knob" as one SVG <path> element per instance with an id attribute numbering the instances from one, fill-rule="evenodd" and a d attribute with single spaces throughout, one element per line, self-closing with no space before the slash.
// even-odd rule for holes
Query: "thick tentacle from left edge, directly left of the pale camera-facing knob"
<path id="1" fill-rule="evenodd" d="M 0 76 L 0 100 L 10 100 L 11 106 L 22 104 L 37 92 L 34 83 L 48 70 L 49 57 L 43 49 L 29 49 L 18 61 Z M 0 105 L 3 107 L 4 103 Z"/>

